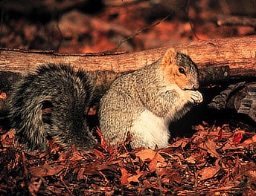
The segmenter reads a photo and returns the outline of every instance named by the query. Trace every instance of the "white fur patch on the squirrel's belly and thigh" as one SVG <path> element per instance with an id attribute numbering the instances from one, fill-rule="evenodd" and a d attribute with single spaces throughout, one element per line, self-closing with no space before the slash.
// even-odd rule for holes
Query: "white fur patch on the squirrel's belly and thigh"
<path id="1" fill-rule="evenodd" d="M 168 125 L 168 120 L 157 117 L 151 111 L 143 111 L 138 119 L 132 123 L 135 146 L 167 147 L 170 137 Z"/>

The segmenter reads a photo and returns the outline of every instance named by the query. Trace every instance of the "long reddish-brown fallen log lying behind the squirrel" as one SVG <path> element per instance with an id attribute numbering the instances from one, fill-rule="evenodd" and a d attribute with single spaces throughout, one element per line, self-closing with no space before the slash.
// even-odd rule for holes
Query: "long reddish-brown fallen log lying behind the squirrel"
<path id="1" fill-rule="evenodd" d="M 189 42 L 173 46 L 173 48 L 188 50 L 189 56 L 191 56 L 191 59 L 199 68 L 201 86 L 208 86 L 209 84 L 234 81 L 236 79 L 237 81 L 241 79 L 255 81 L 255 42 L 256 36 L 245 36 Z M 97 90 L 102 93 L 109 88 L 111 82 L 121 73 L 133 71 L 155 62 L 165 53 L 167 48 L 170 47 L 144 50 L 136 53 L 106 52 L 97 54 L 63 54 L 53 51 L 0 48 L 0 76 L 6 80 L 10 78 L 10 81 L 15 81 L 16 77 L 13 77 L 11 73 L 19 73 L 24 76 L 42 64 L 50 62 L 57 64 L 65 63 L 74 68 L 89 71 L 93 82 L 97 86 Z M 7 73 L 10 76 L 4 77 Z M 249 99 L 255 98 L 247 96 L 246 102 L 248 102 L 248 97 Z M 226 99 L 230 99 L 230 97 L 226 97 Z M 245 105 L 242 98 L 240 102 Z M 255 108 L 255 103 L 253 100 L 252 102 L 252 108 Z M 217 108 L 220 108 L 220 104 L 215 105 L 217 105 Z M 237 107 L 237 109 L 239 111 L 246 111 L 243 106 L 242 108 Z M 254 110 L 251 110 L 249 113 L 255 114 L 254 112 Z"/>

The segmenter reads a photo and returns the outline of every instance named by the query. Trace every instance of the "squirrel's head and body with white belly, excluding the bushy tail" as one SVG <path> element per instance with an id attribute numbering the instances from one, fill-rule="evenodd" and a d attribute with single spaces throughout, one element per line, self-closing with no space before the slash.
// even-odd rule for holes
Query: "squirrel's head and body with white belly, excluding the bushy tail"
<path id="1" fill-rule="evenodd" d="M 132 148 L 165 148 L 169 123 L 202 102 L 199 73 L 191 58 L 173 48 L 151 65 L 112 82 L 100 100 L 100 131 L 112 145 L 130 133 Z"/>

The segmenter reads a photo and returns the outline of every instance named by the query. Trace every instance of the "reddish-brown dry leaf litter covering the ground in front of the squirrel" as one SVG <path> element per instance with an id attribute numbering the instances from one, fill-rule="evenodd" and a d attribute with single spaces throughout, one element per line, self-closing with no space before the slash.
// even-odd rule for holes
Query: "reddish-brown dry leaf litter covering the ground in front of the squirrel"
<path id="1" fill-rule="evenodd" d="M 1 134 L 1 195 L 255 195 L 256 134 L 202 125 L 167 148 L 109 146 L 100 130 L 94 151 L 22 151 L 13 130 Z M 2 131 L 1 131 L 2 133 Z"/>

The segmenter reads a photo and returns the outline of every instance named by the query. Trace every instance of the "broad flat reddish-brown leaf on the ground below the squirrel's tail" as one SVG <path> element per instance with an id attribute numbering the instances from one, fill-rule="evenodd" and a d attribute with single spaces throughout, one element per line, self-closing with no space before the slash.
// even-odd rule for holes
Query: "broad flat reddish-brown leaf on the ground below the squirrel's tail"
<path id="1" fill-rule="evenodd" d="M 58 174 L 60 171 L 62 171 L 65 168 L 65 166 L 61 166 L 60 164 L 54 164 L 49 166 L 47 163 L 44 166 L 38 166 L 29 169 L 31 174 L 34 177 L 45 177 L 45 176 L 51 176 L 54 174 Z"/>

